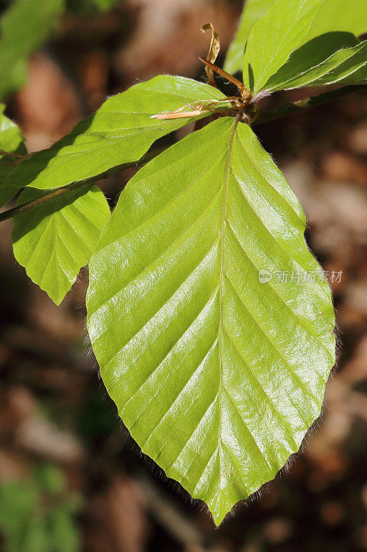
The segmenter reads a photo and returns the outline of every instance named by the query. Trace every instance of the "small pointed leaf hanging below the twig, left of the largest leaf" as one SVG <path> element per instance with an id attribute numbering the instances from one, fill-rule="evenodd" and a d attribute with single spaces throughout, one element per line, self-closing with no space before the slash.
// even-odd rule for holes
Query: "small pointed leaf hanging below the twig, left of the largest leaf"
<path id="1" fill-rule="evenodd" d="M 42 195 L 40 190 L 25 188 L 19 204 Z M 14 256 L 59 305 L 81 267 L 88 264 L 108 219 L 109 206 L 96 186 L 59 197 L 14 217 Z"/>

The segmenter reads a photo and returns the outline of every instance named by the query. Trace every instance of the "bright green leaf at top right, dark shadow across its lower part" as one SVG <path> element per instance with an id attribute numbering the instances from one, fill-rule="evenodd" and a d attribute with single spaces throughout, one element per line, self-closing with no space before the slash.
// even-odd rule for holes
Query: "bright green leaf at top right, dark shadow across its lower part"
<path id="1" fill-rule="evenodd" d="M 299 52 L 297 63 L 301 63 L 302 71 L 325 61 L 345 46 L 355 46 L 355 43 L 345 43 L 345 33 L 359 34 L 364 28 L 361 21 L 366 26 L 365 0 L 351 0 L 348 10 L 344 0 L 275 0 L 249 34 L 244 52 L 244 85 L 253 93 L 267 90 L 267 81 L 291 54 L 317 37 L 311 46 Z M 337 34 L 327 36 L 334 32 Z M 335 42 L 335 36 L 340 37 L 339 43 Z M 334 51 L 330 50 L 330 41 L 334 43 Z M 315 56 L 317 63 L 313 60 Z M 290 72 L 292 68 L 289 63 Z M 296 76 L 294 67 L 291 77 Z"/>

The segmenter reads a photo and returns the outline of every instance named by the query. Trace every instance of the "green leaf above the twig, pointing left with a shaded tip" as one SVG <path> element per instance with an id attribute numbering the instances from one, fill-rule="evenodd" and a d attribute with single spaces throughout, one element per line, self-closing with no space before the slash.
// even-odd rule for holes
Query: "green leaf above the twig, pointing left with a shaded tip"
<path id="1" fill-rule="evenodd" d="M 23 161 L 8 185 L 59 188 L 138 161 L 156 139 L 200 117 L 162 121 L 151 115 L 176 110 L 196 101 L 222 100 L 212 86 L 185 77 L 160 75 L 113 96 L 95 115 L 48 150 Z"/>

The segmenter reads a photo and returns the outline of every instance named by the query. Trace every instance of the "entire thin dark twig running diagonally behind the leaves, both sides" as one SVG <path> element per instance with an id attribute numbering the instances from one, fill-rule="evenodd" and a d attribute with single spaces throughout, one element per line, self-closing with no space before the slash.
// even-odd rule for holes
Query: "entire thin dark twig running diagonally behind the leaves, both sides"
<path id="1" fill-rule="evenodd" d="M 257 119 L 253 121 L 253 126 L 260 125 L 263 123 L 269 123 L 270 121 L 275 121 L 275 119 L 280 119 L 280 117 L 284 117 L 285 115 L 290 115 L 291 113 L 302 111 L 306 108 L 321 106 L 323 103 L 343 97 L 347 94 L 352 94 L 353 92 L 366 90 L 366 88 L 367 87 L 364 84 L 343 86 L 342 88 L 337 88 L 336 90 L 331 90 L 330 92 L 324 92 L 322 94 L 319 94 L 318 96 L 312 96 L 310 98 L 305 98 L 300 101 L 295 101 L 293 103 L 286 103 L 284 106 L 280 106 L 279 108 L 264 110 L 260 112 L 260 115 L 257 117 Z M 123 165 L 113 167 L 112 169 L 109 169 L 106 172 L 103 172 L 101 175 L 97 175 L 96 177 L 92 177 L 90 179 L 83 180 L 80 182 L 74 182 L 74 184 L 69 184 L 68 186 L 63 186 L 62 188 L 57 188 L 56 190 L 52 190 L 52 192 L 46 195 L 43 195 L 43 197 L 39 197 L 39 199 L 34 199 L 34 201 L 28 201 L 28 203 L 19 205 L 12 209 L 8 209 L 3 213 L 0 213 L 0 222 L 10 219 L 14 217 L 14 215 L 19 215 L 19 213 L 26 213 L 27 211 L 35 207 L 38 207 L 40 205 L 43 205 L 45 203 L 48 203 L 49 201 L 53 201 L 58 197 L 70 194 L 74 192 L 74 190 L 80 190 L 81 188 L 92 186 L 92 184 L 97 179 L 107 178 L 109 175 L 112 175 L 116 172 L 120 172 L 121 170 L 126 170 L 127 168 L 143 165 L 147 161 L 154 159 L 154 157 L 156 157 L 162 151 L 167 149 L 167 147 L 151 150 L 151 152 L 146 153 L 141 159 L 139 159 L 139 161 L 134 161 L 132 163 L 125 163 Z M 7 154 L 7 155 L 12 155 L 12 154 Z"/>

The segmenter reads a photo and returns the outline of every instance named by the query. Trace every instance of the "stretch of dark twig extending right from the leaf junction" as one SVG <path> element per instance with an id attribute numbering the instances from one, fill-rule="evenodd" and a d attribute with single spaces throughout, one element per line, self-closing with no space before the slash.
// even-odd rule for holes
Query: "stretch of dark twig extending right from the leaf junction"
<path id="1" fill-rule="evenodd" d="M 322 106 L 323 103 L 333 101 L 334 99 L 341 98 L 347 94 L 352 94 L 353 92 L 359 92 L 360 90 L 367 90 L 366 85 L 353 84 L 351 86 L 342 86 L 342 88 L 337 88 L 336 90 L 331 90 L 329 92 L 323 92 L 318 96 L 311 96 L 310 98 L 301 99 L 300 101 L 295 101 L 293 103 L 286 103 L 284 106 L 280 106 L 279 108 L 266 109 L 260 112 L 257 119 L 253 121 L 253 126 L 269 123 L 270 121 L 275 121 L 275 119 L 280 119 L 280 117 L 284 117 L 285 115 L 290 115 L 291 113 L 302 111 L 307 108 Z"/>

